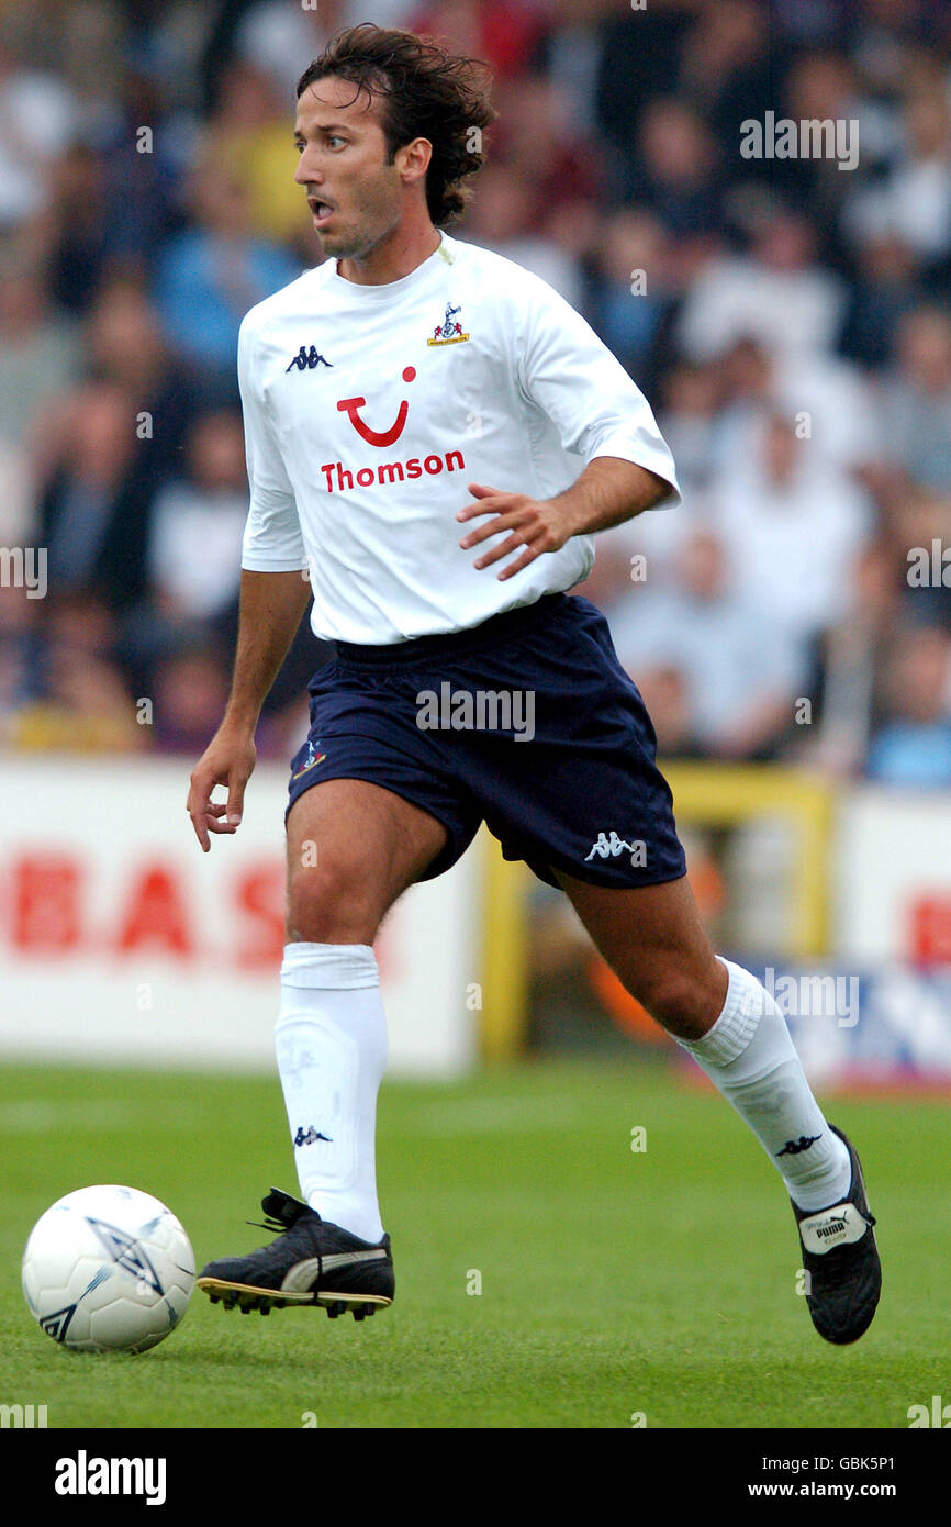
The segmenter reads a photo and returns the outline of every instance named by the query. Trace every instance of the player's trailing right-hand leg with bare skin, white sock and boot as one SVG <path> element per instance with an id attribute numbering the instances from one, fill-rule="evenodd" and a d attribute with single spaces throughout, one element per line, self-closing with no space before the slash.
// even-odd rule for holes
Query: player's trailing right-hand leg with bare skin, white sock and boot
<path id="1" fill-rule="evenodd" d="M 690 1051 L 782 1173 L 814 1322 L 829 1341 L 855 1341 L 878 1303 L 875 1222 L 858 1157 L 826 1122 L 777 1003 L 713 953 L 685 876 L 635 889 L 557 880 L 630 996 Z"/>

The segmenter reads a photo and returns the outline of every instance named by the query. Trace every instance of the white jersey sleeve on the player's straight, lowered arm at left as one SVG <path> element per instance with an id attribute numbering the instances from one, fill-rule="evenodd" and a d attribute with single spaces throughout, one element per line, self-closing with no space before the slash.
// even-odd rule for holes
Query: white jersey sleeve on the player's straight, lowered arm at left
<path id="1" fill-rule="evenodd" d="M 305 565 L 295 492 L 287 476 L 264 402 L 258 395 L 253 328 L 249 316 L 238 331 L 238 386 L 244 415 L 244 460 L 250 508 L 244 525 L 241 567 L 249 573 L 296 573 Z"/>

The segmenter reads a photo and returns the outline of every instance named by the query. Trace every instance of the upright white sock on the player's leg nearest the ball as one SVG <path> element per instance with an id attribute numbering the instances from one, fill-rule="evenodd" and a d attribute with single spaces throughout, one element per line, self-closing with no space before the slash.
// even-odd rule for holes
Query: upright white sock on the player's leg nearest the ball
<path id="1" fill-rule="evenodd" d="M 368 944 L 284 947 L 275 1043 L 302 1197 L 322 1219 L 379 1241 L 376 1115 L 386 1019 Z"/>

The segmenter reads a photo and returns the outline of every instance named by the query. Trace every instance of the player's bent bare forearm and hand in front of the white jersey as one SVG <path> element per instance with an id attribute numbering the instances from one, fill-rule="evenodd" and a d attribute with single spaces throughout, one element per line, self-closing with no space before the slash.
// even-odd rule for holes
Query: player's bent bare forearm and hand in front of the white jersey
<path id="1" fill-rule="evenodd" d="M 499 573 L 499 579 L 505 580 L 543 551 L 559 551 L 571 536 L 609 530 L 646 508 L 653 508 L 670 495 L 672 489 L 656 472 L 635 461 L 597 457 L 585 467 L 577 483 L 556 498 L 536 499 L 525 493 L 502 493 L 482 483 L 470 483 L 469 492 L 478 502 L 461 508 L 456 519 L 485 515 L 493 518 L 464 536 L 459 545 L 467 550 L 508 530 L 505 541 L 484 551 L 475 563 L 476 568 L 484 568 L 521 550 L 516 560 Z"/>

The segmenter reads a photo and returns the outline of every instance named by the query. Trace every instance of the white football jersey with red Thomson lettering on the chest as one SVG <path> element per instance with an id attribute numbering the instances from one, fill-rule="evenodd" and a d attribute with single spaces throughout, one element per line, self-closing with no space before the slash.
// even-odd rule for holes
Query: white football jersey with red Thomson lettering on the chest
<path id="1" fill-rule="evenodd" d="M 258 302 L 238 380 L 241 565 L 308 568 L 325 640 L 461 631 L 586 577 L 592 536 L 505 582 L 505 560 L 476 571 L 496 538 L 461 550 L 485 524 L 455 518 L 469 483 L 546 499 L 621 457 L 670 483 L 664 507 L 679 502 L 647 400 L 589 325 L 545 281 L 446 234 L 400 281 L 357 286 L 327 260 Z"/>

